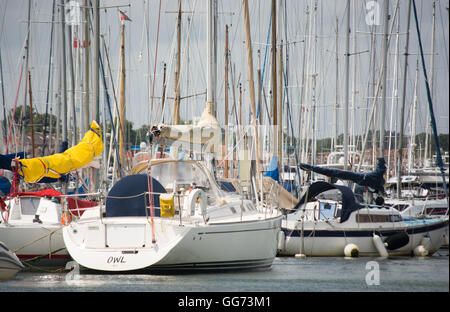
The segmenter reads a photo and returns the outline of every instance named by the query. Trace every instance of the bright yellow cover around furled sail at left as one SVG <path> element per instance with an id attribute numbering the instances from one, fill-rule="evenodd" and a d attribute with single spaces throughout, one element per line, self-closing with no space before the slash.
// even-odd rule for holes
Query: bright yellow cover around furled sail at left
<path id="1" fill-rule="evenodd" d="M 38 182 L 44 177 L 60 178 L 71 170 L 88 165 L 103 151 L 100 126 L 93 121 L 83 139 L 75 146 L 45 157 L 17 160 L 18 173 L 26 182 Z"/>

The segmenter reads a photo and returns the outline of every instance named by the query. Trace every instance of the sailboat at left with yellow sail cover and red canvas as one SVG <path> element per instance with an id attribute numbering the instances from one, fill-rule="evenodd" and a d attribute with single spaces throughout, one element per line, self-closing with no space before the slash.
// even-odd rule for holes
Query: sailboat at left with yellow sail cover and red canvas
<path id="1" fill-rule="evenodd" d="M 88 165 L 102 149 L 101 130 L 93 121 L 84 138 L 63 153 L 30 159 L 8 158 L 9 164 L 1 162 L 6 164 L 3 169 L 14 173 L 14 180 L 11 193 L 0 199 L 0 237 L 20 259 L 44 266 L 67 262 L 70 257 L 61 229 L 87 208 L 97 206 L 97 202 L 72 198 L 51 188 L 21 192 L 19 179 L 36 183 L 61 178 L 71 170 Z"/>

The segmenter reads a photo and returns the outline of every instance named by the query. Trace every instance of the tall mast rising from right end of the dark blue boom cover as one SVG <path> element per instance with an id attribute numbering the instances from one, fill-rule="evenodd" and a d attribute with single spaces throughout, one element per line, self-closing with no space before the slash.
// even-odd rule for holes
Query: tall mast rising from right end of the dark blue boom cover
<path id="1" fill-rule="evenodd" d="M 381 110 L 380 110 L 380 155 L 379 157 L 384 157 L 384 120 L 386 111 L 386 77 L 387 77 L 387 57 L 388 57 L 388 23 L 389 23 L 389 0 L 384 2 L 384 40 L 383 40 L 383 85 L 381 93 Z"/>

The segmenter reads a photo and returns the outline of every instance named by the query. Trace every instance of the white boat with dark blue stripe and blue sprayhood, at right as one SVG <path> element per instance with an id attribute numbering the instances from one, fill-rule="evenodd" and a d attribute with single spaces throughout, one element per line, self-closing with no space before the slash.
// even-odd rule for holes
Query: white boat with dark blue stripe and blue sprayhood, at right
<path id="1" fill-rule="evenodd" d="M 446 236 L 448 215 L 405 220 L 394 208 L 357 203 L 348 187 L 316 182 L 282 221 L 278 253 L 423 256 L 436 252 Z"/>

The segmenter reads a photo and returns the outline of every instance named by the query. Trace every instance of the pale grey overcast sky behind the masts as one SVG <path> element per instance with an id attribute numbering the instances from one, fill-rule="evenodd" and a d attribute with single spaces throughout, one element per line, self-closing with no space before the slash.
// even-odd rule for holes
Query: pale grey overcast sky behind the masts
<path id="1" fill-rule="evenodd" d="M 203 93 L 206 90 L 206 2 L 207 0 L 183 0 L 183 17 L 182 17 L 182 69 L 181 69 L 181 96 L 188 96 L 197 93 Z M 19 85 L 20 68 L 23 63 L 24 44 L 27 30 L 27 10 L 28 0 L 1 0 L 0 1 L 0 48 L 3 62 L 3 84 L 5 90 L 5 105 L 7 110 L 13 108 L 17 87 Z M 59 1 L 57 1 L 59 3 Z M 82 1 L 84 3 L 84 0 Z M 355 92 L 355 131 L 363 133 L 368 121 L 368 115 L 372 106 L 372 52 L 375 52 L 375 79 L 378 79 L 379 70 L 382 60 L 382 39 L 383 39 L 383 3 L 384 1 L 375 1 L 380 7 L 380 25 L 369 26 L 366 22 L 368 13 L 374 12 L 368 10 L 366 5 L 374 1 L 351 1 L 351 42 L 350 52 L 354 53 L 354 42 L 356 42 L 356 55 L 350 57 L 350 101 L 352 100 L 352 92 Z M 448 0 L 440 0 L 436 2 L 436 26 L 435 26 L 435 65 L 433 78 L 433 94 L 434 94 L 434 112 L 440 133 L 449 132 L 449 19 L 448 19 Z M 32 91 L 33 105 L 36 109 L 45 112 L 46 91 L 47 91 L 47 72 L 48 58 L 50 54 L 50 29 L 49 23 L 52 18 L 52 0 L 32 0 L 31 13 L 31 33 L 30 33 L 30 58 L 29 64 L 32 75 Z M 314 10 L 314 4 L 317 3 L 317 10 Z M 328 137 L 333 135 L 333 107 L 335 104 L 336 85 L 338 86 L 338 102 L 340 110 L 338 112 L 339 120 L 342 120 L 342 112 L 344 105 L 344 75 L 345 69 L 345 8 L 347 1 L 344 0 L 286 0 L 282 1 L 281 16 L 278 17 L 280 22 L 277 27 L 278 39 L 283 43 L 288 41 L 288 49 L 284 49 L 283 53 L 288 52 L 289 68 L 288 68 L 288 86 L 285 90 L 289 92 L 289 104 L 291 108 L 292 120 L 294 128 L 298 127 L 299 112 L 301 106 L 301 88 L 303 70 L 308 80 L 305 106 L 316 104 L 317 137 Z M 389 12 L 391 16 L 394 12 L 396 0 L 390 1 Z M 128 6 L 131 4 L 131 6 Z M 148 5 L 147 5 L 148 4 Z M 425 60 L 428 76 L 431 79 L 430 53 L 431 53 L 431 33 L 432 33 L 432 4 L 433 1 L 416 1 L 417 13 L 422 33 L 422 43 L 425 52 Z M 156 36 L 158 26 L 158 0 L 108 0 L 101 1 L 101 6 L 126 5 L 122 9 L 131 18 L 131 22 L 126 22 L 126 118 L 134 123 L 135 128 L 139 128 L 144 124 L 153 122 L 161 122 L 162 114 L 160 113 L 160 99 L 155 98 L 153 102 L 153 117 L 150 120 L 151 100 L 149 98 L 153 90 L 153 72 L 155 70 L 155 51 Z M 284 5 L 286 10 L 284 10 Z M 253 41 L 253 62 L 256 71 L 263 70 L 264 58 L 266 57 L 266 66 L 264 71 L 264 91 L 269 95 L 271 89 L 270 68 L 271 56 L 270 46 L 267 49 L 266 41 L 269 30 L 270 7 L 269 0 L 249 0 L 251 32 Z M 161 8 L 161 24 L 158 44 L 158 58 L 156 61 L 155 76 L 155 97 L 162 94 L 162 78 L 163 63 L 167 64 L 167 81 L 168 81 L 168 97 L 174 95 L 174 70 L 175 70 L 175 30 L 176 30 L 176 14 L 174 12 L 178 8 L 178 0 L 162 1 Z M 145 13 L 148 13 L 148 27 L 145 23 Z M 238 100 L 239 89 L 238 82 L 242 83 L 243 88 L 243 116 L 245 123 L 248 123 L 248 78 L 247 78 L 247 58 L 245 54 L 245 32 L 243 27 L 242 1 L 240 0 L 218 0 L 218 21 L 217 21 L 217 111 L 218 120 L 221 124 L 224 122 L 224 38 L 225 25 L 230 26 L 230 57 L 234 66 L 233 76 L 230 73 L 230 108 L 233 105 L 233 90 L 235 87 L 235 99 Z M 316 12 L 314 14 L 314 12 Z M 395 93 L 394 79 L 398 79 L 398 93 L 401 96 L 401 82 L 403 79 L 403 53 L 405 46 L 406 32 L 406 12 L 407 1 L 399 2 L 399 14 L 393 28 L 393 36 L 389 46 L 388 60 L 388 82 L 387 82 L 387 101 L 386 101 L 386 118 L 385 127 L 389 129 L 391 125 L 391 111 L 393 112 L 392 127 L 398 128 L 396 120 L 398 119 L 398 111 L 401 100 L 392 98 Z M 286 17 L 286 21 L 285 21 Z M 312 24 L 316 25 L 309 29 L 313 35 L 313 40 L 308 33 L 308 18 L 315 17 Z M 58 17 L 57 17 L 58 18 Z M 336 83 L 336 19 L 338 23 L 338 81 Z M 110 67 L 112 70 L 112 80 L 114 87 L 118 90 L 118 64 L 119 64 L 119 45 L 120 45 L 120 20 L 116 8 L 102 9 L 100 11 L 101 33 L 104 35 L 105 43 L 108 48 Z M 391 18 L 392 21 L 392 18 Z M 390 22 L 391 22 L 390 21 Z M 397 22 L 399 21 L 400 34 L 397 36 Z M 286 23 L 285 23 L 286 22 Z M 316 31 L 312 31 L 313 29 Z M 147 29 L 149 41 L 147 41 Z M 54 57 L 55 67 L 54 73 L 57 73 L 57 58 L 59 53 L 59 24 L 55 24 L 54 37 Z M 76 29 L 75 29 L 76 30 Z M 374 31 L 376 35 L 376 45 L 371 43 L 370 31 Z M 58 36 L 56 36 L 58 35 Z M 356 41 L 354 41 L 356 38 Z M 398 38 L 397 70 L 395 70 L 395 50 Z M 410 27 L 410 56 L 408 58 L 408 76 L 407 76 L 407 95 L 406 95 L 406 112 L 412 110 L 414 100 L 414 81 L 416 71 L 416 61 L 419 59 L 419 48 L 417 40 L 417 32 L 415 28 L 414 15 L 411 15 Z M 269 40 L 270 43 L 270 40 Z M 305 47 L 309 47 L 310 53 L 306 54 L 306 66 L 303 66 L 303 56 L 306 53 Z M 74 49 L 76 52 L 84 53 L 82 49 Z M 259 52 L 258 52 L 259 51 Z M 102 51 L 103 60 L 105 55 Z M 356 70 L 353 67 L 356 61 Z M 283 59 L 286 62 L 286 59 Z M 79 68 L 83 64 L 74 62 L 75 70 L 80 73 Z M 150 66 L 148 65 L 150 64 Z M 106 64 L 105 64 L 106 65 Z M 80 67 L 81 66 L 81 67 Z M 356 79 L 353 79 L 356 73 Z M 313 85 L 312 78 L 315 76 L 315 101 L 312 98 Z M 80 95 L 79 74 L 77 76 L 76 92 Z M 231 79 L 234 79 L 232 83 Z M 107 77 L 108 88 L 111 91 L 111 80 Z M 377 81 L 375 81 L 376 83 Z M 417 133 L 424 131 L 426 123 L 428 102 L 426 99 L 426 90 L 422 65 L 419 63 L 418 76 L 418 101 L 417 101 Z M 53 92 L 56 91 L 57 80 L 53 79 Z M 255 86 L 256 87 L 256 86 Z M 257 90 L 257 88 L 256 88 Z M 92 91 L 92 87 L 91 87 Z M 76 105 L 81 105 L 81 97 L 77 95 Z M 103 87 L 101 84 L 100 100 L 101 106 L 104 106 Z M 380 92 L 381 96 L 381 92 Z M 50 107 L 55 112 L 54 97 L 51 97 Z M 112 94 L 111 94 L 111 98 Z M 191 97 L 182 100 L 181 118 L 184 120 L 192 120 L 200 116 L 205 103 L 205 95 Z M 17 105 L 22 105 L 24 101 L 23 80 L 18 97 Z M 394 106 L 392 106 L 394 104 Z M 2 103 L 3 105 L 3 103 Z M 267 105 L 270 105 L 270 99 L 267 99 Z M 170 122 L 172 118 L 173 100 L 167 99 L 164 109 L 165 121 Z M 350 110 L 353 110 L 353 104 L 350 103 Z M 1 108 L 3 110 L 3 108 Z M 102 109 L 102 108 L 101 108 Z M 265 110 L 265 109 L 264 109 Z M 158 111 L 158 114 L 156 114 Z M 397 112 L 397 113 L 396 113 Z M 3 112 L 0 113 L 3 118 Z M 406 117 L 405 125 L 406 133 L 409 133 L 410 114 Z M 266 115 L 264 115 L 266 118 Z M 230 117 L 233 120 L 234 116 Z M 342 122 L 339 122 L 338 132 L 342 133 Z M 295 130 L 296 131 L 296 130 Z"/>

